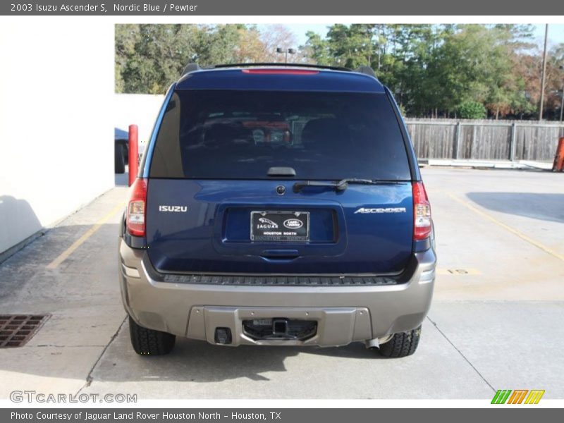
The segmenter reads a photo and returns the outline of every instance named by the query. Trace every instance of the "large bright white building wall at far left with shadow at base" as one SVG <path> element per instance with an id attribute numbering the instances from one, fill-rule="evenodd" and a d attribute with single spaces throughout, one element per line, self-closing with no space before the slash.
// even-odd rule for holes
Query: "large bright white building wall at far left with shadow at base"
<path id="1" fill-rule="evenodd" d="M 0 253 L 114 186 L 114 24 L 0 18 Z"/>

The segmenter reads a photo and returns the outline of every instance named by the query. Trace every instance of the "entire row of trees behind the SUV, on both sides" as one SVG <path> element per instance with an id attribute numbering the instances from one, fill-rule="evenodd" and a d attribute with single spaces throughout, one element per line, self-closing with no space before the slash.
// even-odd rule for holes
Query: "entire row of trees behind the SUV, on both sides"
<path id="1" fill-rule="evenodd" d="M 288 61 L 371 66 L 408 116 L 458 116 L 479 103 L 493 118 L 532 117 L 541 54 L 531 25 L 335 24 L 307 32 Z M 296 49 L 284 25 L 116 25 L 116 91 L 163 93 L 186 63 L 283 62 Z M 548 54 L 546 115 L 558 118 L 564 44 Z"/>

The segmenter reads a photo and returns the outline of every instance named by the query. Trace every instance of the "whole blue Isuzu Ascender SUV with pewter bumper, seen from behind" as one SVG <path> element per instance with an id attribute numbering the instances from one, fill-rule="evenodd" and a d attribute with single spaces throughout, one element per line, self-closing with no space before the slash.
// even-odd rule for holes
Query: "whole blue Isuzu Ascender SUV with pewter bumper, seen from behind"
<path id="1" fill-rule="evenodd" d="M 190 63 L 169 88 L 119 238 L 133 348 L 415 352 L 433 295 L 431 208 L 372 69 Z"/>

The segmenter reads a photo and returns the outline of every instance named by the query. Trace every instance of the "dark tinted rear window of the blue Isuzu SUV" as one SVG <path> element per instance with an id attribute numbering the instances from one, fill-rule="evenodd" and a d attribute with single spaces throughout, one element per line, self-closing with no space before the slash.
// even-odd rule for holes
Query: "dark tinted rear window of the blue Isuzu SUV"
<path id="1" fill-rule="evenodd" d="M 185 90 L 166 108 L 152 178 L 409 180 L 400 127 L 385 94 Z"/>

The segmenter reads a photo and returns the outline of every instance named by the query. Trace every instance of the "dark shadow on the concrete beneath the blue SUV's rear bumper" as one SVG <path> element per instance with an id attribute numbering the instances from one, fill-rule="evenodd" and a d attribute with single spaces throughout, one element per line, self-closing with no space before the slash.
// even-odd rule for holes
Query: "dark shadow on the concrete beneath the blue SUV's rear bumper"
<path id="1" fill-rule="evenodd" d="M 226 347 L 178 337 L 169 355 L 146 357 L 133 351 L 129 329 L 125 324 L 92 376 L 97 381 L 112 382 L 154 380 L 211 383 L 238 378 L 268 381 L 269 377 L 264 374 L 286 372 L 286 358 L 300 354 L 362 360 L 379 357 L 375 351 L 364 348 L 362 343 L 339 348 Z M 305 374 L 301 376 L 307 377 Z"/>

